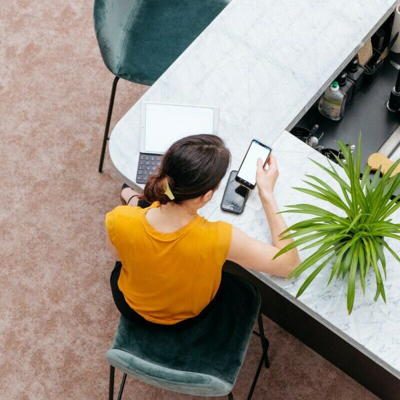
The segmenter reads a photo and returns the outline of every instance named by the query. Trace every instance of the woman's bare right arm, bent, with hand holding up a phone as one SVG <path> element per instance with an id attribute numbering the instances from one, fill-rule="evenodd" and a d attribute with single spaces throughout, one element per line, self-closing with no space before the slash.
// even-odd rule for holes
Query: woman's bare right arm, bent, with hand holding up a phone
<path id="1" fill-rule="evenodd" d="M 297 249 L 293 248 L 272 259 L 281 248 L 293 241 L 293 239 L 279 240 L 282 237 L 280 233 L 287 228 L 287 225 L 282 215 L 277 214 L 279 209 L 273 197 L 273 187 L 278 175 L 273 155 L 269 157 L 268 170 L 264 170 L 260 158 L 257 160 L 258 194 L 271 231 L 272 245 L 253 239 L 233 227 L 227 259 L 246 268 L 286 277 L 300 263 L 300 258 Z"/>

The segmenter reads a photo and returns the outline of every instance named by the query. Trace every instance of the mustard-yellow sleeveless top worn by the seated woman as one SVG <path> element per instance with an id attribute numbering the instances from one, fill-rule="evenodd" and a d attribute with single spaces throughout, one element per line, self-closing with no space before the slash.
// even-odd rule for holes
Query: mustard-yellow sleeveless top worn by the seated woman
<path id="1" fill-rule="evenodd" d="M 118 287 L 126 302 L 148 321 L 173 324 L 196 316 L 214 297 L 232 225 L 197 214 L 179 230 L 161 233 L 145 216 L 158 206 L 118 206 L 105 225 L 122 262 Z"/>

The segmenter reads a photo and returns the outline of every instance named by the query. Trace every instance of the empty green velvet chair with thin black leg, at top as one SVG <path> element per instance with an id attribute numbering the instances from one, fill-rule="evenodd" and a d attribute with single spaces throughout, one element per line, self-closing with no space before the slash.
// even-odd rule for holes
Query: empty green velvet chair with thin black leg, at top
<path id="1" fill-rule="evenodd" d="M 101 172 L 119 78 L 151 85 L 229 0 L 95 0 L 94 30 L 115 75 L 98 171 Z"/>

